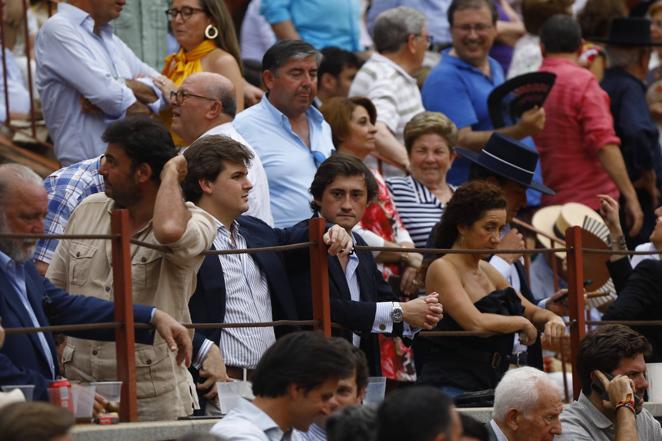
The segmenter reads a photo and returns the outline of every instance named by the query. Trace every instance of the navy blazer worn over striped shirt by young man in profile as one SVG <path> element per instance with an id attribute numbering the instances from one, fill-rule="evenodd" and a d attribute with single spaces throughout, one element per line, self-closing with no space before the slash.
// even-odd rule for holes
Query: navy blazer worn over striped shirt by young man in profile
<path id="1" fill-rule="evenodd" d="M 285 230 L 271 228 L 260 219 L 252 216 L 240 216 L 239 233 L 246 239 L 248 248 L 261 248 L 287 245 L 308 241 L 308 225 Z M 306 253 L 307 249 L 304 250 Z M 285 269 L 285 259 L 281 252 L 254 253 L 250 256 L 265 275 L 271 296 L 273 320 L 297 320 L 298 314 L 290 280 Z M 225 319 L 225 279 L 223 267 L 217 255 L 206 256 L 197 276 L 197 286 L 189 300 L 189 310 L 193 323 L 222 323 Z M 276 337 L 297 330 L 296 327 L 279 326 L 274 328 Z M 193 337 L 193 352 L 197 354 L 205 338 L 218 344 L 220 329 L 199 329 Z M 191 368 L 196 382 L 199 381 L 197 369 Z M 204 402 L 199 394 L 200 403 Z"/>

